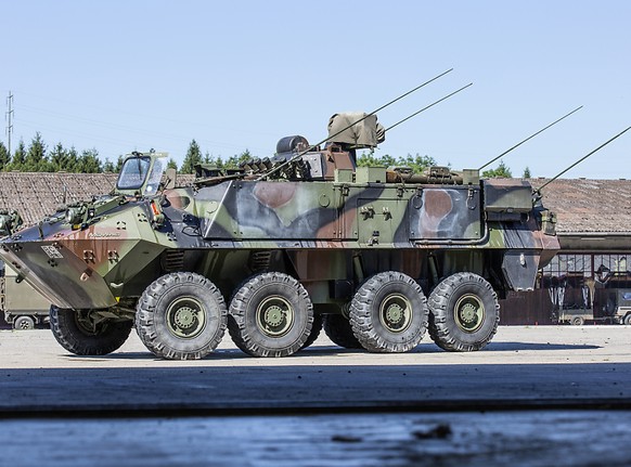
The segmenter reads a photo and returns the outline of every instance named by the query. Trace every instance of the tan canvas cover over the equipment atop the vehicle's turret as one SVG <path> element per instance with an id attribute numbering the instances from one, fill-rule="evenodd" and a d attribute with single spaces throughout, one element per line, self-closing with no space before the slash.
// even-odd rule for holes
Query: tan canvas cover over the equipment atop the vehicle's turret
<path id="1" fill-rule="evenodd" d="M 352 144 L 356 147 L 375 147 L 378 143 L 384 142 L 386 133 L 384 127 L 377 124 L 377 116 L 370 115 L 366 117 L 366 115 L 363 112 L 346 112 L 333 115 L 329 120 L 329 141 Z M 364 119 L 362 120 L 362 118 Z M 356 121 L 359 122 L 352 125 Z M 347 129 L 344 130 L 345 128 Z"/>

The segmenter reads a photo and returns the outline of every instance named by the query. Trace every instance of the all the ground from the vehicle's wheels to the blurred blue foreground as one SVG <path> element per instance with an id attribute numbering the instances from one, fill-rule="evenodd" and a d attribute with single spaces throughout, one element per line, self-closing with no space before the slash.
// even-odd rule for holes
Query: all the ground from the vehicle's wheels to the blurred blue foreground
<path id="1" fill-rule="evenodd" d="M 628 466 L 631 328 L 501 327 L 487 350 L 397 355 L 229 339 L 195 362 L 133 336 L 105 358 L 0 332 L 2 465 Z"/>

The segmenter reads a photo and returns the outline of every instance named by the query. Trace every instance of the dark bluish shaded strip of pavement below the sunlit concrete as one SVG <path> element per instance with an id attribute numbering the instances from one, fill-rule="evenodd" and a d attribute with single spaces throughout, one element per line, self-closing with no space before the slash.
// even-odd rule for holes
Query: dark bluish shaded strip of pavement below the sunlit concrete
<path id="1" fill-rule="evenodd" d="M 0 369 L 0 416 L 485 410 L 546 401 L 631 406 L 631 364 L 217 366 L 202 361 L 194 366 Z"/>

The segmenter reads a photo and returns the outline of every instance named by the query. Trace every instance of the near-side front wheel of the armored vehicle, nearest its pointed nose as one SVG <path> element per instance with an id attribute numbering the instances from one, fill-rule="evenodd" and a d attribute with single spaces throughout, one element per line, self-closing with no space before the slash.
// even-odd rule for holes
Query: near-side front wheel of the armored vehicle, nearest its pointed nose
<path id="1" fill-rule="evenodd" d="M 199 274 L 175 272 L 154 281 L 137 306 L 136 330 L 155 355 L 195 360 L 226 333 L 228 309 L 219 289 Z"/>

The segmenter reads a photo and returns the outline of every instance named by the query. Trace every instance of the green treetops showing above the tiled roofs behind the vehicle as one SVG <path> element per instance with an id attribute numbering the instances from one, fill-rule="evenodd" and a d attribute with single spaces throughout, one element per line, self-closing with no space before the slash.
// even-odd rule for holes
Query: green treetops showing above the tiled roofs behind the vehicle
<path id="1" fill-rule="evenodd" d="M 197 164 L 209 164 L 220 169 L 236 168 L 240 164 L 253 159 L 252 153 L 246 148 L 241 154 L 235 154 L 228 158 L 221 156 L 211 156 L 209 153 L 202 153 L 199 144 L 192 140 L 182 161 L 178 167 L 176 160 L 171 157 L 168 160 L 168 167 L 175 168 L 180 173 L 194 173 Z M 105 158 L 101 159 L 95 148 L 78 151 L 74 146 L 64 147 L 62 143 L 55 144 L 51 150 L 48 148 L 39 132 L 26 146 L 24 141 L 20 141 L 17 148 L 13 154 L 9 151 L 3 142 L 0 141 L 0 171 L 22 171 L 22 172 L 74 172 L 74 173 L 99 173 L 99 172 L 118 172 L 123 166 L 124 156 L 119 155 L 116 160 Z M 427 167 L 437 166 L 438 164 L 430 156 L 421 156 L 418 154 L 408 154 L 404 157 L 392 157 L 390 155 L 376 156 L 374 153 L 362 153 L 357 159 L 358 166 L 404 166 L 410 167 L 414 172 L 422 172 Z M 495 169 L 482 172 L 485 178 L 511 178 L 511 169 L 503 160 Z M 526 167 L 524 178 L 530 178 L 530 170 Z"/>

